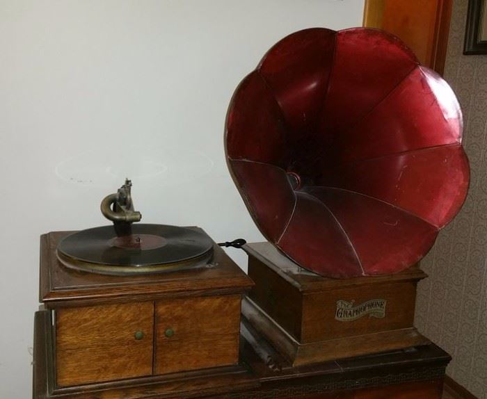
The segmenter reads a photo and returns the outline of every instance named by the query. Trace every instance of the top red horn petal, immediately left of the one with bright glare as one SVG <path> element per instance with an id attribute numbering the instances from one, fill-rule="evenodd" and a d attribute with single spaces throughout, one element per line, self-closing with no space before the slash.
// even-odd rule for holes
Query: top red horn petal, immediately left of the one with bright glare
<path id="1" fill-rule="evenodd" d="M 415 55 L 393 35 L 376 29 L 339 31 L 321 130 L 337 133 L 358 122 L 417 65 Z"/>

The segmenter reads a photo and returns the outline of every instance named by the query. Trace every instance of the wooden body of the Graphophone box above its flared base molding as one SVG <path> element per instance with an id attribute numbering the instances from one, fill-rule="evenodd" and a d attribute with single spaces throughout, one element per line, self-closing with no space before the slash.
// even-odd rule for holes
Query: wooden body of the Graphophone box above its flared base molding
<path id="1" fill-rule="evenodd" d="M 298 343 L 346 343 L 352 336 L 413 328 L 417 282 L 426 277 L 418 266 L 394 275 L 330 279 L 303 270 L 269 243 L 248 244 L 245 250 L 255 282 L 250 300 Z M 371 300 L 386 301 L 385 317 L 365 312 L 355 320 L 335 320 L 338 301 L 358 307 Z"/>

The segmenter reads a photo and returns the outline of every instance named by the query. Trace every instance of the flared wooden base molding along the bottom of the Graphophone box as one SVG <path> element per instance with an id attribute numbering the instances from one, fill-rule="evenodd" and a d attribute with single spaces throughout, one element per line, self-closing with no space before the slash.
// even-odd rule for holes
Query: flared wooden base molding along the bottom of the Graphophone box
<path id="1" fill-rule="evenodd" d="M 342 359 L 351 357 L 351 354 L 368 355 L 429 343 L 429 339 L 422 336 L 414 327 L 300 343 L 249 298 L 242 301 L 242 313 L 257 332 L 271 342 L 293 366 Z"/>

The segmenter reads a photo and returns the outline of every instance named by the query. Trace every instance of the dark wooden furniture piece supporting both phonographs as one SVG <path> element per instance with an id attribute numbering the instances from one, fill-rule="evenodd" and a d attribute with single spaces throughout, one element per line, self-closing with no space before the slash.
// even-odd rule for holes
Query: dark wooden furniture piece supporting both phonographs
<path id="1" fill-rule="evenodd" d="M 243 318 L 241 366 L 140 377 L 116 382 L 54 386 L 49 311 L 35 314 L 34 399 L 440 399 L 450 357 L 422 345 L 308 366 L 292 366 Z"/>

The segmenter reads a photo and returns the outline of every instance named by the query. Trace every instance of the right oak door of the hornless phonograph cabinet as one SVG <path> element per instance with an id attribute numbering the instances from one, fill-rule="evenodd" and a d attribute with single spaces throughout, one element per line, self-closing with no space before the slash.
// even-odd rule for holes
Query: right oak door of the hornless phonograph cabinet
<path id="1" fill-rule="evenodd" d="M 156 302 L 154 373 L 237 364 L 240 295 Z"/>

